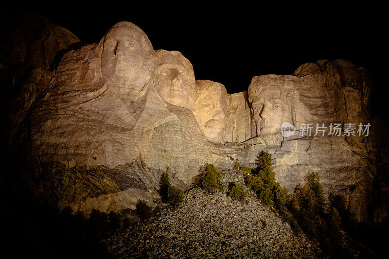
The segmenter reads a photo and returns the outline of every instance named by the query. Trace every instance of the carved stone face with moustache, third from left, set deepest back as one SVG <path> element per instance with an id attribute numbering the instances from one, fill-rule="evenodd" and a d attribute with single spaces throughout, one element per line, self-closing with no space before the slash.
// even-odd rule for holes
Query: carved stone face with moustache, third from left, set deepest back
<path id="1" fill-rule="evenodd" d="M 202 80 L 199 80 L 202 81 Z M 211 81 L 203 81 L 210 83 Z M 211 86 L 197 91 L 198 97 L 193 106 L 193 114 L 211 142 L 222 142 L 227 109 L 227 92 L 223 85 L 211 82 Z M 203 85 L 200 83 L 200 85 Z M 196 83 L 196 88 L 198 87 Z"/>

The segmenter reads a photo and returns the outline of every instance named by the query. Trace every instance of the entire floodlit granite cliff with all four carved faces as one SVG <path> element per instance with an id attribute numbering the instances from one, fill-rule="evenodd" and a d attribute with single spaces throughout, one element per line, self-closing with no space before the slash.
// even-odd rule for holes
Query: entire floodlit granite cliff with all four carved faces
<path id="1" fill-rule="evenodd" d="M 66 52 L 53 73 L 46 70 L 49 59 L 26 82 L 18 99 L 26 101 L 15 103 L 12 118 L 25 117 L 18 107 L 29 110 L 27 158 L 32 171 L 55 183 L 37 192 L 56 196 L 60 207 L 133 208 L 138 198 L 152 199 L 167 169 L 174 185 L 188 188 L 205 163 L 229 169 L 232 156 L 251 166 L 267 150 L 289 191 L 315 171 L 326 194 L 342 195 L 356 219 L 386 216 L 387 130 L 369 108 L 367 71 L 350 62 L 321 60 L 294 75 L 256 76 L 247 92 L 230 95 L 219 83 L 195 81 L 180 52 L 155 52 L 129 22 L 114 25 L 99 43 Z M 293 132 L 283 133 L 283 123 Z M 344 134 L 347 123 L 354 123 L 354 134 Z M 358 132 L 359 123 L 365 130 L 370 123 L 369 134 Z M 68 174 L 56 177 L 58 168 L 71 169 L 71 181 Z M 36 183 L 39 173 L 32 175 Z"/>

